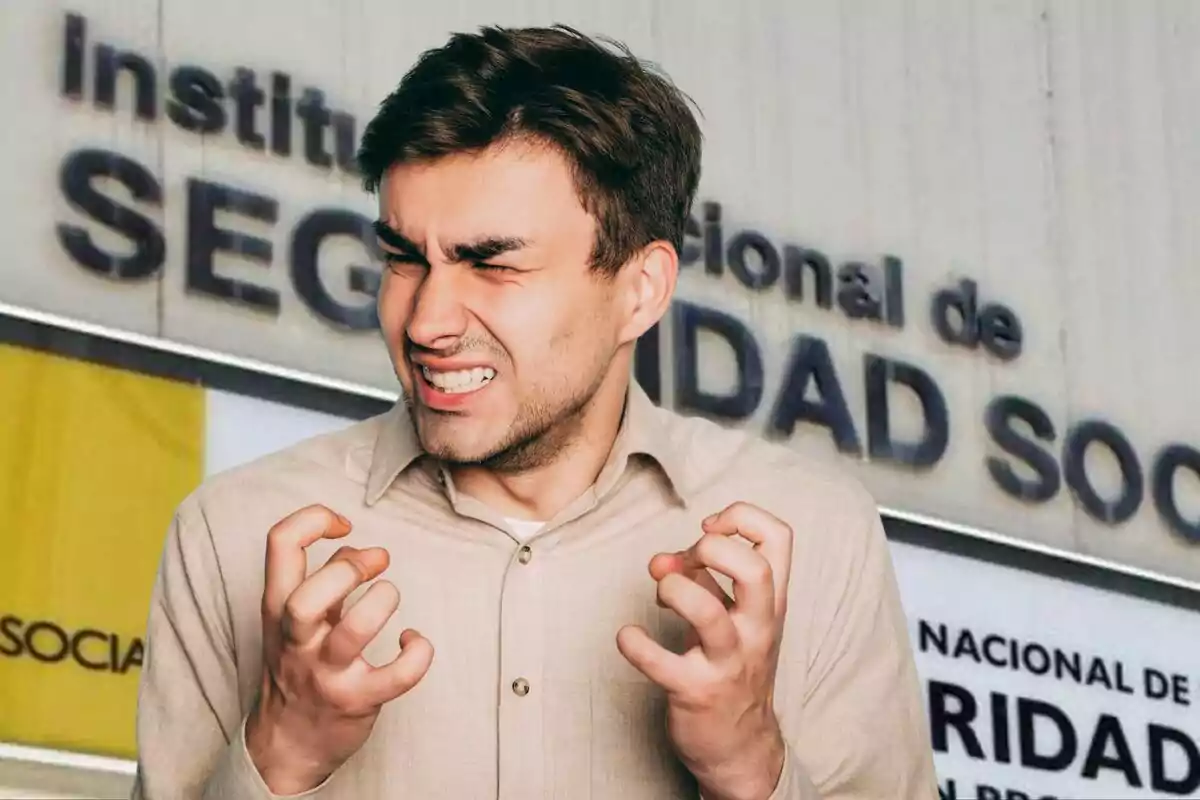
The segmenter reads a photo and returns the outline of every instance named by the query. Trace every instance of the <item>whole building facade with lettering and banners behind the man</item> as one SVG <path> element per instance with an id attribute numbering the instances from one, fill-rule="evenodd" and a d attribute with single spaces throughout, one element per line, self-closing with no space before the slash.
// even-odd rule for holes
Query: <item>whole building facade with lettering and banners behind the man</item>
<path id="1" fill-rule="evenodd" d="M 175 505 L 395 399 L 353 154 L 491 23 L 696 101 L 637 379 L 875 493 L 943 798 L 1200 796 L 1200 4 L 7 0 L 0 798 L 127 795 Z"/>

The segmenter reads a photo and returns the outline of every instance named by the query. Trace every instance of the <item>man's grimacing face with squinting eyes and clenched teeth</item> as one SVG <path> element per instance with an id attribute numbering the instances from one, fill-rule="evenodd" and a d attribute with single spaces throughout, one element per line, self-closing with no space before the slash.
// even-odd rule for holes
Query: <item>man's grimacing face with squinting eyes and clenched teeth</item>
<path id="1" fill-rule="evenodd" d="M 379 221 L 379 319 L 424 449 L 502 470 L 553 458 L 628 338 L 568 162 L 517 142 L 400 164 Z"/>

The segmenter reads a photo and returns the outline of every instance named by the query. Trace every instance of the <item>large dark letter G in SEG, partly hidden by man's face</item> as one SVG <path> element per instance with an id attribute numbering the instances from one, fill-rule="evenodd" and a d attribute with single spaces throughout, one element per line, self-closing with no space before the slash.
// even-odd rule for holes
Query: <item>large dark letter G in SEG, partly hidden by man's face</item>
<path id="1" fill-rule="evenodd" d="M 379 327 L 376 295 L 379 294 L 379 273 L 353 264 L 347 269 L 349 288 L 366 295 L 358 306 L 347 306 L 334 299 L 320 282 L 317 269 L 322 242 L 329 236 L 350 236 L 362 242 L 373 255 L 376 235 L 371 221 L 353 211 L 320 209 L 313 211 L 296 225 L 292 236 L 292 282 L 301 300 L 325 320 L 353 331 Z"/>

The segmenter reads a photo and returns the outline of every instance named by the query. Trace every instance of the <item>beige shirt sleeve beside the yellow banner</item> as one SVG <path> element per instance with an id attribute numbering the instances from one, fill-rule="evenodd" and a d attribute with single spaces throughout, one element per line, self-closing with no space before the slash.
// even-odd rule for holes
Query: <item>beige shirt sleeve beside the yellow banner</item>
<path id="1" fill-rule="evenodd" d="M 272 799 L 244 726 L 226 588 L 190 497 L 168 528 L 151 593 L 132 800 Z"/>

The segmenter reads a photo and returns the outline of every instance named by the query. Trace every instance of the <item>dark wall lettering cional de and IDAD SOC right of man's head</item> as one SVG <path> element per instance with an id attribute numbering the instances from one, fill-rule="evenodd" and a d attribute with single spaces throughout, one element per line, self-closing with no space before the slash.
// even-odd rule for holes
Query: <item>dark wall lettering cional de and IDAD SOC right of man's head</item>
<path id="1" fill-rule="evenodd" d="M 834 266 L 815 248 L 776 247 L 756 230 L 728 236 L 721 227 L 721 206 L 704 204 L 704 224 L 689 219 L 689 241 L 683 263 L 692 270 L 703 264 L 704 275 L 720 278 L 726 271 L 751 293 L 775 291 L 786 302 L 808 303 L 840 314 L 850 325 L 876 325 L 902 330 L 907 315 L 904 263 L 884 255 L 882 263 L 847 261 Z M 1012 362 L 1020 357 L 1030 335 L 1021 315 L 1003 302 L 982 294 L 972 278 L 960 278 L 937 288 L 916 303 L 941 345 L 965 354 Z M 752 327 L 720 308 L 688 301 L 674 303 L 670 320 L 673 350 L 662 355 L 655 333 L 640 344 L 640 379 L 661 396 L 664 371 L 671 372 L 674 407 L 728 423 L 762 417 L 762 433 L 788 439 L 800 425 L 823 428 L 842 455 L 893 464 L 902 469 L 929 470 L 938 465 L 950 444 L 952 415 L 966 410 L 959 398 L 947 399 L 940 381 L 925 368 L 866 351 L 858 374 L 839 371 L 824 338 L 797 332 L 782 354 L 776 391 L 766 391 L 764 347 Z M 726 348 L 736 365 L 732 386 L 722 391 L 706 387 L 706 365 L 721 361 L 720 354 L 702 348 L 701 335 Z M 728 359 L 724 359 L 728 361 Z M 860 381 L 865 409 L 856 414 L 842 389 L 847 380 Z M 728 383 L 728 381 L 726 381 Z M 916 401 L 916 435 L 899 439 L 893 433 L 895 392 Z M 1056 423 L 1037 403 L 1018 393 L 997 393 L 976 414 L 956 413 L 955 425 L 978 425 L 986 431 L 992 453 L 979 464 L 997 489 L 1014 500 L 1037 505 L 1068 492 L 1075 505 L 1096 523 L 1121 525 L 1142 511 L 1180 541 L 1200 545 L 1200 513 L 1186 513 L 1180 493 L 1184 481 L 1200 482 L 1200 441 L 1168 441 L 1147 463 L 1129 437 L 1112 422 L 1086 417 L 1069 425 Z M 973 416 L 973 419 L 972 419 Z M 911 421 L 911 420 L 910 420 Z M 1105 486 L 1094 470 L 1102 464 L 1090 455 L 1103 452 L 1116 465 L 1116 486 Z M 1198 483 L 1200 485 L 1200 483 Z M 1189 487 L 1190 488 L 1190 487 Z M 1195 493 L 1192 493 L 1194 497 Z M 1194 505 L 1194 504 L 1193 504 Z"/>

